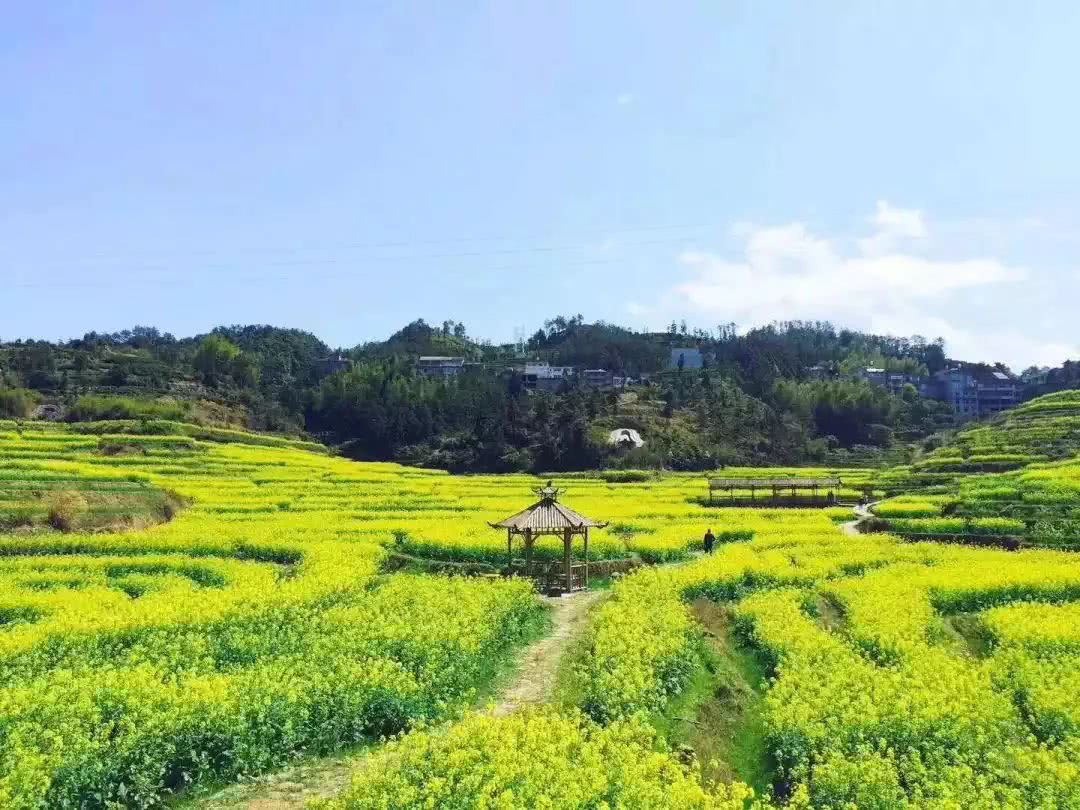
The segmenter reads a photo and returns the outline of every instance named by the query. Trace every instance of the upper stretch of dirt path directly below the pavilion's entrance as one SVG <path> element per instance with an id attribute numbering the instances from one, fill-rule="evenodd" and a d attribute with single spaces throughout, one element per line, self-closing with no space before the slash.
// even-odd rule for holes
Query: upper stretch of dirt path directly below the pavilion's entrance
<path id="1" fill-rule="evenodd" d="M 569 596 L 541 597 L 553 608 L 553 631 L 525 648 L 518 659 L 517 675 L 491 710 L 496 717 L 551 699 L 563 653 L 584 630 L 590 608 L 604 595 L 604 591 L 581 591 Z"/>

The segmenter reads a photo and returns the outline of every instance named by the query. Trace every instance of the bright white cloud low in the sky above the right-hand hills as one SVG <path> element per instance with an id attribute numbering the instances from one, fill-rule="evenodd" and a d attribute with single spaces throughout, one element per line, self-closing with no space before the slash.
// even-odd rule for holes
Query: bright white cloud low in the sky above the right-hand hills
<path id="1" fill-rule="evenodd" d="M 670 291 L 664 309 L 689 308 L 712 323 L 744 326 L 828 320 L 878 334 L 941 336 L 953 356 L 1014 365 L 1056 364 L 1080 353 L 1063 341 L 1034 337 L 1038 329 L 1011 328 L 1024 321 L 1009 309 L 1008 285 L 1027 279 L 1027 269 L 989 256 L 921 255 L 930 229 L 917 210 L 881 201 L 869 221 L 872 232 L 854 242 L 813 233 L 800 222 L 740 224 L 731 229 L 740 255 L 679 255 L 689 278 Z M 1003 299 L 993 302 L 997 318 L 986 306 L 995 291 Z M 955 324 L 960 319 L 963 327 Z M 978 326 L 980 321 L 990 326 Z"/>

